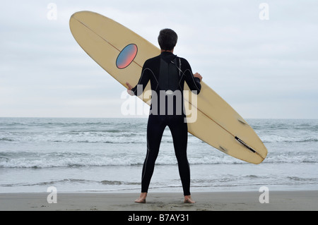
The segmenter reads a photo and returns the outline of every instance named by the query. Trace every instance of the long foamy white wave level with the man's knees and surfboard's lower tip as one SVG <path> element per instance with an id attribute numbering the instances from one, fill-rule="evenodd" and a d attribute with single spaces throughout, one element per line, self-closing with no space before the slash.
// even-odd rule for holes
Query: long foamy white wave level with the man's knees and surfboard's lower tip
<path id="1" fill-rule="evenodd" d="M 188 154 L 189 164 L 247 164 L 225 154 L 195 157 Z M 142 166 L 144 154 L 114 153 L 108 156 L 102 154 L 59 152 L 39 154 L 28 152 L 0 154 L 0 168 L 55 168 L 55 167 L 82 167 L 82 166 Z M 318 154 L 269 154 L 262 164 L 317 164 Z M 174 154 L 160 154 L 157 165 L 177 165 Z"/>

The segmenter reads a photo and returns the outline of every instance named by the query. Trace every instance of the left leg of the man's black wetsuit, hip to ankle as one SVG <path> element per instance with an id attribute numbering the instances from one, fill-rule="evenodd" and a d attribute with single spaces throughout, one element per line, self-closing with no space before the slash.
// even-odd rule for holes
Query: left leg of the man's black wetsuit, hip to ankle
<path id="1" fill-rule="evenodd" d="M 161 138 L 167 123 L 162 116 L 150 115 L 147 126 L 147 154 L 143 162 L 143 172 L 141 175 L 141 192 L 147 193 L 153 170 L 155 168 L 155 159 L 158 157 Z"/>

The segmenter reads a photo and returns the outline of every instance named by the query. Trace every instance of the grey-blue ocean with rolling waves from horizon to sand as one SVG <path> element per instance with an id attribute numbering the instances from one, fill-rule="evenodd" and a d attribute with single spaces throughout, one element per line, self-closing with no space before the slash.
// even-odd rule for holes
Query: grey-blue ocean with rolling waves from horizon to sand
<path id="1" fill-rule="evenodd" d="M 247 119 L 269 154 L 259 165 L 189 134 L 192 192 L 317 190 L 318 120 Z M 0 118 L 0 193 L 139 193 L 147 118 Z M 167 128 L 149 192 L 182 193 Z"/>

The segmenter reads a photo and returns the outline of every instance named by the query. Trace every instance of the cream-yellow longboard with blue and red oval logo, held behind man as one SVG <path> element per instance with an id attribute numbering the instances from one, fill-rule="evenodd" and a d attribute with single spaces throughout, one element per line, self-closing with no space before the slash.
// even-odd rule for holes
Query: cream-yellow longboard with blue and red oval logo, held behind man
<path id="1" fill-rule="evenodd" d="M 160 49 L 151 42 L 98 13 L 74 13 L 69 25 L 82 49 L 125 88 L 126 82 L 136 85 L 143 63 L 160 54 Z M 150 88 L 148 83 L 144 92 Z M 186 83 L 184 90 L 189 90 Z M 143 95 L 141 97 L 149 104 L 150 99 Z M 195 102 L 186 95 L 184 102 L 189 103 L 190 109 L 197 109 L 196 121 L 188 123 L 189 133 L 245 162 L 259 164 L 264 161 L 267 150 L 257 133 L 206 83 L 201 81 L 201 92 Z"/>

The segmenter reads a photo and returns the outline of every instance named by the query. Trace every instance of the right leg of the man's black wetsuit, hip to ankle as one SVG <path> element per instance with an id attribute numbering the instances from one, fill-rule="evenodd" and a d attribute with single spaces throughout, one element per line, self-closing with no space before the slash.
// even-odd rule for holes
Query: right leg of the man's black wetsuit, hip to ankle
<path id="1" fill-rule="evenodd" d="M 179 176 L 182 182 L 184 195 L 190 193 L 190 166 L 187 159 L 188 128 L 184 123 L 183 116 L 174 116 L 170 119 L 168 126 L 172 134 L 175 156 L 177 157 Z"/>

